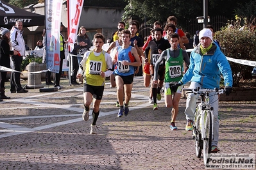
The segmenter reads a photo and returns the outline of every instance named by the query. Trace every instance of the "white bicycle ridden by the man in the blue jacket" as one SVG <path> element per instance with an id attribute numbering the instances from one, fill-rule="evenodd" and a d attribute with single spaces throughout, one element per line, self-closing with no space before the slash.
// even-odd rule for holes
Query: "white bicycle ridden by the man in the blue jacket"
<path id="1" fill-rule="evenodd" d="M 196 112 L 194 118 L 193 138 L 195 139 L 196 157 L 201 157 L 201 151 L 203 150 L 203 163 L 207 164 L 208 154 L 212 150 L 213 139 L 213 107 L 210 105 L 210 92 L 216 92 L 214 95 L 225 93 L 224 89 L 200 89 L 200 87 L 191 89 L 184 88 L 184 91 L 191 91 L 195 95 L 200 94 L 201 98 L 198 98 L 196 105 Z M 188 92 L 189 93 L 189 92 Z M 202 128 L 203 127 L 203 128 Z"/>

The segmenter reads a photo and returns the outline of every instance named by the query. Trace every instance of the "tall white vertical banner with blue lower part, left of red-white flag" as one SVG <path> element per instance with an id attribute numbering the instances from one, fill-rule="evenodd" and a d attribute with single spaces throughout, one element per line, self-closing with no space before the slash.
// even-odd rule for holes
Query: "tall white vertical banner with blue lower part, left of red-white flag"
<path id="1" fill-rule="evenodd" d="M 46 0 L 46 55 L 47 69 L 58 73 L 60 70 L 60 20 L 62 0 Z"/>

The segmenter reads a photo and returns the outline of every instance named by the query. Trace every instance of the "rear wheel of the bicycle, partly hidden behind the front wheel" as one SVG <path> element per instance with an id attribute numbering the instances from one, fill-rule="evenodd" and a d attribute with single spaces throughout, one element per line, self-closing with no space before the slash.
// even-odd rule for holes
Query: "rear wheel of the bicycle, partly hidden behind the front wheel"
<path id="1" fill-rule="evenodd" d="M 194 124 L 194 146 L 196 149 L 196 157 L 201 157 L 201 150 L 203 149 L 203 141 L 201 140 L 201 130 L 200 130 L 200 123 L 201 118 L 198 117 L 198 113 L 196 112 L 196 118 L 195 118 L 195 124 Z"/>

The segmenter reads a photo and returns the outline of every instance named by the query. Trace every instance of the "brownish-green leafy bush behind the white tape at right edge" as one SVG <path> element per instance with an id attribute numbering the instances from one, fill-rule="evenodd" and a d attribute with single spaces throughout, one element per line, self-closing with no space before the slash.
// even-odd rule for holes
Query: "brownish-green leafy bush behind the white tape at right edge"
<path id="1" fill-rule="evenodd" d="M 247 25 L 245 25 L 243 31 L 239 31 L 240 27 L 239 24 L 234 29 L 226 27 L 216 32 L 214 38 L 221 44 L 221 50 L 225 56 L 256 61 L 256 34 L 254 28 L 248 29 Z M 231 61 L 230 66 L 233 73 L 234 87 L 239 87 L 241 79 L 252 78 L 252 66 L 241 65 Z"/>

